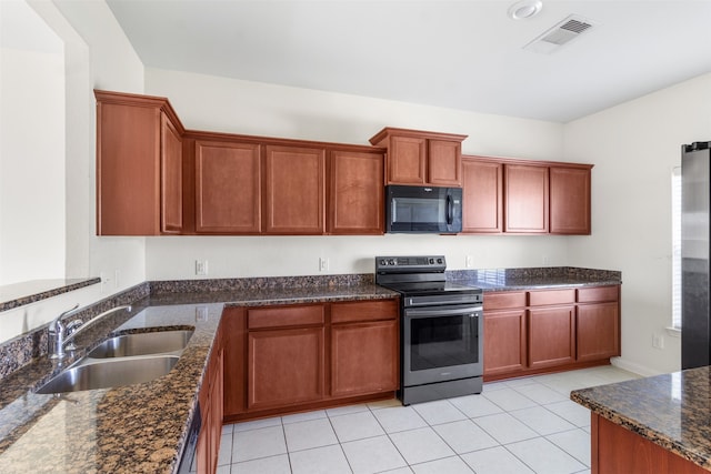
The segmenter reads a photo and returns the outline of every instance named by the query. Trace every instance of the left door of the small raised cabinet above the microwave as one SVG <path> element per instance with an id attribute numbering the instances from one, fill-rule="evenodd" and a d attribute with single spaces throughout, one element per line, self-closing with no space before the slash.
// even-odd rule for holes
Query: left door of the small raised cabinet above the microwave
<path id="1" fill-rule="evenodd" d="M 392 137 L 388 157 L 389 184 L 424 184 L 427 182 L 427 140 Z"/>

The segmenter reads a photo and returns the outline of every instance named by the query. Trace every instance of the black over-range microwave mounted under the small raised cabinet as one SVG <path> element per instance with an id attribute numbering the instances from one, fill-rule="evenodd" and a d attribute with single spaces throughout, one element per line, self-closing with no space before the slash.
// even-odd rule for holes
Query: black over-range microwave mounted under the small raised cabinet
<path id="1" fill-rule="evenodd" d="M 461 188 L 385 186 L 385 232 L 462 231 Z"/>

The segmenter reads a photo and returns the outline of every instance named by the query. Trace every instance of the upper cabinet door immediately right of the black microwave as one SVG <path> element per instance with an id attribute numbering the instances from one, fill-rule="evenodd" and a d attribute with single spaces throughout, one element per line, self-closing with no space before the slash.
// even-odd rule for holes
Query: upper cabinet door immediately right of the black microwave
<path id="1" fill-rule="evenodd" d="M 503 230 L 503 164 L 462 159 L 462 232 Z"/>

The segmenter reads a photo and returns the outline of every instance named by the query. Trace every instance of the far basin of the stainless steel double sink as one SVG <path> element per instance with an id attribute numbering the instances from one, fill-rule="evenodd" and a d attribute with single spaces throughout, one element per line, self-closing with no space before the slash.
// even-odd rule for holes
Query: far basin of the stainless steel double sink
<path id="1" fill-rule="evenodd" d="M 89 353 L 90 359 L 126 357 L 182 351 L 192 331 L 160 331 L 111 337 Z"/>

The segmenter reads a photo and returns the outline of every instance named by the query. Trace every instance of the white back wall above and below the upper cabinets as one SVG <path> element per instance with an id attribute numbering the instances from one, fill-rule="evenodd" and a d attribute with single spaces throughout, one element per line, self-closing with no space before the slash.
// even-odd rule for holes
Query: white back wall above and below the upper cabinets
<path id="1" fill-rule="evenodd" d="M 147 68 L 146 93 L 168 97 L 188 129 L 356 144 L 383 127 L 468 134 L 467 154 L 567 160 L 562 125 L 364 97 L 238 81 Z M 450 269 L 565 264 L 568 241 L 552 236 L 241 236 L 151 238 L 149 280 L 194 279 L 208 260 L 209 278 L 372 273 L 378 254 L 442 253 Z M 584 239 L 584 238 L 580 238 Z"/>

